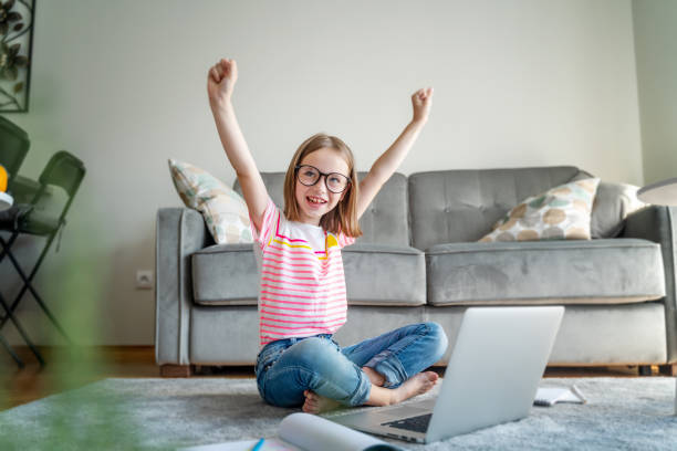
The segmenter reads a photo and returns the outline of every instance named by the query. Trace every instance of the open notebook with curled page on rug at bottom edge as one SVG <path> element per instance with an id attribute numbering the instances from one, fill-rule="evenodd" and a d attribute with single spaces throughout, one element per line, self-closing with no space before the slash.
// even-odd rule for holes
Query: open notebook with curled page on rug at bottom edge
<path id="1" fill-rule="evenodd" d="M 204 444 L 183 451 L 251 451 L 259 440 Z M 402 450 L 366 433 L 310 413 L 292 413 L 280 423 L 278 437 L 265 439 L 257 451 L 385 451 Z"/>

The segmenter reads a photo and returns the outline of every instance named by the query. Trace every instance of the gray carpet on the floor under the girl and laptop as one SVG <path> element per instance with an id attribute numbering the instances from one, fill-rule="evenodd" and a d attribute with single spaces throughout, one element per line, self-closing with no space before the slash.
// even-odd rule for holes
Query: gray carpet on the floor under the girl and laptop
<path id="1" fill-rule="evenodd" d="M 534 407 L 521 421 L 427 447 L 392 442 L 413 450 L 677 449 L 675 378 L 542 385 L 572 382 L 587 405 Z M 174 449 L 273 437 L 294 411 L 265 405 L 253 379 L 106 379 L 0 412 L 0 449 Z"/>

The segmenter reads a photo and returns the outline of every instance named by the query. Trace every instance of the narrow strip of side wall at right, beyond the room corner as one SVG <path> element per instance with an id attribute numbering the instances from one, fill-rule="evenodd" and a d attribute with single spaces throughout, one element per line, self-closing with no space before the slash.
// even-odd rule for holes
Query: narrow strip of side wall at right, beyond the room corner
<path id="1" fill-rule="evenodd" d="M 647 183 L 677 177 L 677 1 L 633 0 Z"/>

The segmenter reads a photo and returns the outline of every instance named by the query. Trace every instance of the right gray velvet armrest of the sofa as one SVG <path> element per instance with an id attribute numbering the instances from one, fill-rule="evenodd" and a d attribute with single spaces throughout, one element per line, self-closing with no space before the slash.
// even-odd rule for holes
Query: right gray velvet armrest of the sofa
<path id="1" fill-rule="evenodd" d="M 660 244 L 665 269 L 665 323 L 668 363 L 677 361 L 677 208 L 649 206 L 629 214 L 622 237 L 642 238 Z"/>

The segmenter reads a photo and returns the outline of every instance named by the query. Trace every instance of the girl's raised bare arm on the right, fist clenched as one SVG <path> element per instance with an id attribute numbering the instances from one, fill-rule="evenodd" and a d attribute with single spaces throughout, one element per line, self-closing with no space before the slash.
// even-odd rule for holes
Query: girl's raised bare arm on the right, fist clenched
<path id="1" fill-rule="evenodd" d="M 397 170 L 402 160 L 407 156 L 409 149 L 416 141 L 420 130 L 428 122 L 430 105 L 433 105 L 433 88 L 420 88 L 412 95 L 414 107 L 414 118 L 404 132 L 397 137 L 395 143 L 383 153 L 374 162 L 369 172 L 360 182 L 360 197 L 357 198 L 357 219 L 362 217 L 374 200 L 374 197 L 383 187 L 393 172 Z"/>

